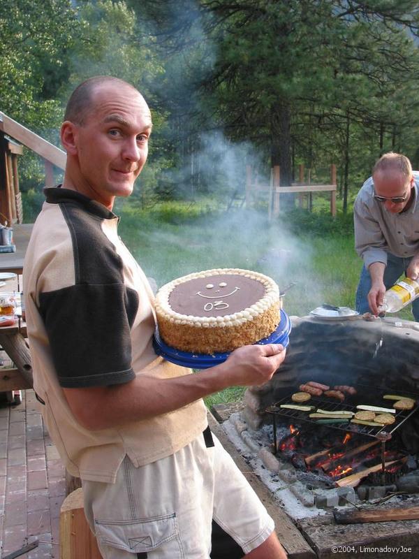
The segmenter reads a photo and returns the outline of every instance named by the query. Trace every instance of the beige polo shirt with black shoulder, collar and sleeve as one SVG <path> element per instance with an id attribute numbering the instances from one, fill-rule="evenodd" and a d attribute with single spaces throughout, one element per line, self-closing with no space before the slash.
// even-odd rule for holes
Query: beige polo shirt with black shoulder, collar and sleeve
<path id="1" fill-rule="evenodd" d="M 202 400 L 124 426 L 87 430 L 63 388 L 159 378 L 191 370 L 157 357 L 154 296 L 117 233 L 108 208 L 68 189 L 45 189 L 24 261 L 24 297 L 34 389 L 43 419 L 72 475 L 115 482 L 127 454 L 136 466 L 165 458 L 207 426 Z"/>

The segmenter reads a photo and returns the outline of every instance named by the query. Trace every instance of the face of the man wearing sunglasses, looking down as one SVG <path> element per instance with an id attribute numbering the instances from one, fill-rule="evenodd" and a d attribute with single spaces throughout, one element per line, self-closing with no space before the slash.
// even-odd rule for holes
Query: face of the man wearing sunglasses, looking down
<path id="1" fill-rule="evenodd" d="M 399 214 L 411 201 L 413 177 L 406 179 L 397 171 L 374 173 L 374 195 L 388 212 Z M 378 198 L 381 198 L 378 199 Z"/>

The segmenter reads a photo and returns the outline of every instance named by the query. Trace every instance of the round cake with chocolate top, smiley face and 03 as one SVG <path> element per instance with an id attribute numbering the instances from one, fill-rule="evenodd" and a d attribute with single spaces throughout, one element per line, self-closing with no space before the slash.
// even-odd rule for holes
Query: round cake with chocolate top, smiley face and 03
<path id="1" fill-rule="evenodd" d="M 249 270 L 206 270 L 161 287 L 156 315 L 170 347 L 198 354 L 233 351 L 277 328 L 279 288 L 270 277 Z"/>

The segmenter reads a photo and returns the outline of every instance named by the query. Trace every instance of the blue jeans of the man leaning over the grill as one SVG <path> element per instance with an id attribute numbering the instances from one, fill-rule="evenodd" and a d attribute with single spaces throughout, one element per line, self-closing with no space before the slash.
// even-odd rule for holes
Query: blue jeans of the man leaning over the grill
<path id="1" fill-rule="evenodd" d="M 384 270 L 384 285 L 385 289 L 389 289 L 392 285 L 397 282 L 397 279 L 406 273 L 409 263 L 413 256 L 410 258 L 401 258 L 400 256 L 394 256 L 394 254 L 387 253 L 387 266 Z M 371 276 L 369 271 L 365 266 L 362 266 L 360 282 L 358 284 L 358 289 L 356 290 L 355 305 L 356 310 L 363 314 L 364 312 L 371 312 L 368 304 L 368 293 L 371 289 Z M 412 305 L 413 317 L 415 317 L 416 322 L 419 322 L 419 298 L 413 301 Z"/>

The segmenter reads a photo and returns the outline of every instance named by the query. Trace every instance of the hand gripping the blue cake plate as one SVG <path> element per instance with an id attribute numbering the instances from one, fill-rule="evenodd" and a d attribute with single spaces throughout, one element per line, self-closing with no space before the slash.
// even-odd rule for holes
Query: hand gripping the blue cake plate
<path id="1" fill-rule="evenodd" d="M 245 345 L 235 349 L 223 368 L 227 386 L 265 384 L 284 361 L 286 349 L 281 344 Z"/>

